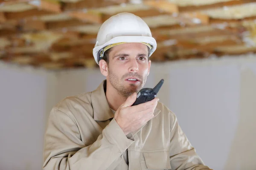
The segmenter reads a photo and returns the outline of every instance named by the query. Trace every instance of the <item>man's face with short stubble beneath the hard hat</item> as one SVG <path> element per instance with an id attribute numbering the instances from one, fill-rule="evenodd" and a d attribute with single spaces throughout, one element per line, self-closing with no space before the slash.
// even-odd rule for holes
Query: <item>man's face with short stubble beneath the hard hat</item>
<path id="1" fill-rule="evenodd" d="M 119 94 L 128 97 L 143 88 L 150 66 L 146 45 L 142 43 L 117 45 L 109 53 L 107 79 Z"/>

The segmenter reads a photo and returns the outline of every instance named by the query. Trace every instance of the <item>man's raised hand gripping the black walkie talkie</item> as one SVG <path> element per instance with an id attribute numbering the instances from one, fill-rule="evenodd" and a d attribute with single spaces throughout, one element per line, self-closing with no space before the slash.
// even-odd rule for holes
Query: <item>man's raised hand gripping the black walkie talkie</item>
<path id="1" fill-rule="evenodd" d="M 140 105 L 131 106 L 137 98 L 134 93 L 117 109 L 114 118 L 125 135 L 142 127 L 154 117 L 154 110 L 157 107 L 158 98 Z"/>

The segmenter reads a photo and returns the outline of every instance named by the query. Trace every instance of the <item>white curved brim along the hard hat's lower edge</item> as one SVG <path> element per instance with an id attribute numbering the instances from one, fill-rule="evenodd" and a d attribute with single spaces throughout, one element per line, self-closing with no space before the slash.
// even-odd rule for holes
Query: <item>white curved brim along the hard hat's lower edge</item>
<path id="1" fill-rule="evenodd" d="M 151 54 L 154 53 L 154 51 L 157 49 L 157 42 L 153 37 L 142 37 L 142 36 L 120 36 L 120 37 L 114 37 L 113 39 L 109 40 L 108 42 L 106 42 L 103 45 L 99 45 L 96 46 L 95 48 L 93 48 L 93 57 L 96 61 L 96 63 L 99 65 L 99 51 L 111 44 L 115 44 L 115 43 L 119 43 L 119 42 L 145 42 L 148 44 L 152 45 L 151 48 L 151 52 L 149 57 L 151 56 Z"/>

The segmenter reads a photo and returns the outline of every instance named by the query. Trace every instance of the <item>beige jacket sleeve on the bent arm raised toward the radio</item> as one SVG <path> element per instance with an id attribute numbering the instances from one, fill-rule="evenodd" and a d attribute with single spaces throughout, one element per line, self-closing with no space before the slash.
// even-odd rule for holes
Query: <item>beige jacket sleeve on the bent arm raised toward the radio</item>
<path id="1" fill-rule="evenodd" d="M 133 143 L 115 119 L 90 145 L 81 141 L 79 128 L 66 113 L 53 108 L 44 136 L 44 170 L 102 170 Z M 85 142 L 86 143 L 86 142 Z"/>

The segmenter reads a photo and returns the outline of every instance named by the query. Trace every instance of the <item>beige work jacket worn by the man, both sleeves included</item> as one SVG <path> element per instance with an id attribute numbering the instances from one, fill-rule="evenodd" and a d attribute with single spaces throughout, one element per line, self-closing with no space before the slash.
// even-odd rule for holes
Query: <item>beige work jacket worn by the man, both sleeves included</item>
<path id="1" fill-rule="evenodd" d="M 113 118 L 105 84 L 67 97 L 52 108 L 44 140 L 44 170 L 209 170 L 175 114 L 160 102 L 154 117 L 126 136 Z"/>

